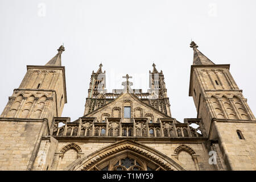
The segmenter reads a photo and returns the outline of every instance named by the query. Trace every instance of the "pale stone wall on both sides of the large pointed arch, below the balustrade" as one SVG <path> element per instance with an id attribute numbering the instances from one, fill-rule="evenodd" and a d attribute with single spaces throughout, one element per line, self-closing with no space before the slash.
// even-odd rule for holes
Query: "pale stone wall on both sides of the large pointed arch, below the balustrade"
<path id="1" fill-rule="evenodd" d="M 57 169 L 57 163 L 59 161 L 59 156 L 61 153 L 61 150 L 65 146 L 68 146 L 69 144 L 76 144 L 81 148 L 82 154 L 79 155 L 79 152 L 77 152 L 74 148 L 69 148 L 69 150 L 64 152 L 64 155 L 61 154 L 63 157 L 60 159 L 59 162 L 59 170 L 63 170 L 65 167 L 67 167 L 69 164 L 71 164 L 73 161 L 75 161 L 79 157 L 88 156 L 92 154 L 93 152 L 100 150 L 106 146 L 108 146 L 109 142 L 60 142 L 57 146 L 56 153 L 55 153 L 55 159 L 54 163 L 52 164 L 51 170 Z M 182 164 L 183 168 L 187 170 L 196 170 L 196 166 L 199 168 L 199 170 L 214 170 L 214 166 L 210 165 L 208 163 L 209 155 L 208 150 L 205 148 L 204 143 L 196 142 L 196 143 L 143 143 L 148 147 L 152 147 L 155 150 L 158 150 L 159 152 L 162 152 L 164 155 L 167 155 L 169 158 L 172 159 L 178 159 Z M 191 148 L 193 151 L 195 151 L 195 154 L 189 154 L 185 150 L 180 150 L 175 152 L 175 150 L 179 146 L 187 146 Z M 196 160 L 195 160 L 196 158 Z"/>

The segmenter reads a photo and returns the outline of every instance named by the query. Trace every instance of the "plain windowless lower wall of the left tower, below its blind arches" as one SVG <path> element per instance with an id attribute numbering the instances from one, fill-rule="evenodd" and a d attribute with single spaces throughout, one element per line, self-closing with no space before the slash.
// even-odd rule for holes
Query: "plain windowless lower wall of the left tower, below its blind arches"
<path id="1" fill-rule="evenodd" d="M 0 169 L 26 170 L 42 127 L 41 121 L 1 119 Z"/>

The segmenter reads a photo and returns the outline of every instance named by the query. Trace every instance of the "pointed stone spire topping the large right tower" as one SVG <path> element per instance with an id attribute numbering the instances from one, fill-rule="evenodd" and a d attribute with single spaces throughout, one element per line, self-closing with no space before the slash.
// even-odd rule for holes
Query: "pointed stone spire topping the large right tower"
<path id="1" fill-rule="evenodd" d="M 207 64 L 214 64 L 211 60 L 208 59 L 203 53 L 201 53 L 197 49 L 197 45 L 195 42 L 190 43 L 190 47 L 194 50 L 194 58 L 193 58 L 193 65 L 207 65 Z"/>

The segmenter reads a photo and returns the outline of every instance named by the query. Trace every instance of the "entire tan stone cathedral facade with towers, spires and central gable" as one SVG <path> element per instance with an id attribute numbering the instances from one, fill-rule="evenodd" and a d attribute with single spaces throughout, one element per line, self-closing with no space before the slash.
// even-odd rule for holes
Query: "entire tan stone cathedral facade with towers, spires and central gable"
<path id="1" fill-rule="evenodd" d="M 164 74 L 153 64 L 149 89 L 106 92 L 102 64 L 92 72 L 84 115 L 61 117 L 67 103 L 61 46 L 27 73 L 0 116 L 0 170 L 256 170 L 256 119 L 229 64 L 193 49 L 189 96 L 197 118 L 171 115 Z M 120 83 L 121 84 L 121 83 Z"/>

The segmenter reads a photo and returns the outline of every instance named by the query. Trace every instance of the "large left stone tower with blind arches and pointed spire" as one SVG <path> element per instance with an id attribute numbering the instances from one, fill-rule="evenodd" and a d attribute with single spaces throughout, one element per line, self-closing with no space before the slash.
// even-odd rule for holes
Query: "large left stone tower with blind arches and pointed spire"
<path id="1" fill-rule="evenodd" d="M 0 146 L 6 147 L 7 162 L 15 166 L 11 169 L 32 168 L 42 135 L 49 134 L 53 117 L 60 117 L 67 103 L 65 67 L 61 66 L 64 50 L 60 46 L 46 65 L 27 65 L 26 75 L 1 114 L 1 129 L 6 133 Z"/>

